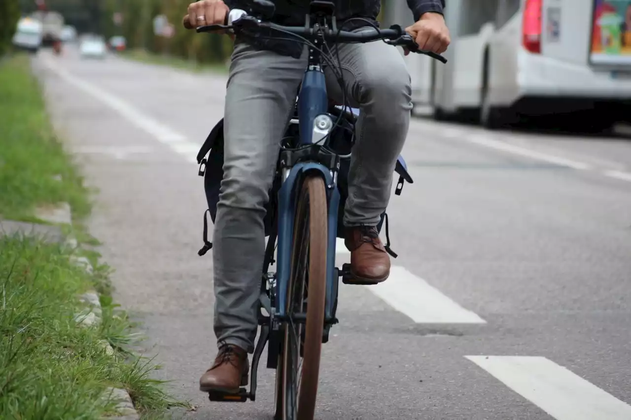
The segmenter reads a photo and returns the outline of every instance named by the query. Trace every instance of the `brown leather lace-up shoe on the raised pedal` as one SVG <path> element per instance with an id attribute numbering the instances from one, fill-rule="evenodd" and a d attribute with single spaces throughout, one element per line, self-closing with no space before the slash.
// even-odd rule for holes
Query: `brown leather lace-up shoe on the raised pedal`
<path id="1" fill-rule="evenodd" d="M 348 283 L 377 284 L 390 275 L 390 257 L 374 226 L 346 228 L 344 243 L 351 252 Z M 355 280 L 355 281 L 353 281 Z"/>

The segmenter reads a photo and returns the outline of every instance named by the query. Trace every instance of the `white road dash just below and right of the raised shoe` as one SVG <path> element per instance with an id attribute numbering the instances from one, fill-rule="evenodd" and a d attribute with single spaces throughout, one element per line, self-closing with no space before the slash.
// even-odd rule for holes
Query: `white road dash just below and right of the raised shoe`
<path id="1" fill-rule="evenodd" d="M 365 287 L 418 324 L 487 323 L 403 267 L 391 267 L 386 281 Z"/>

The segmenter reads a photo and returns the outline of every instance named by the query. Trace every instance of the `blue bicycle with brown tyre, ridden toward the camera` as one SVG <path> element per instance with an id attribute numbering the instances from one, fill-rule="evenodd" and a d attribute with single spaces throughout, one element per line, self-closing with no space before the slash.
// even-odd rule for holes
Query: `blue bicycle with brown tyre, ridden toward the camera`
<path id="1" fill-rule="evenodd" d="M 336 238 L 341 237 L 338 226 L 338 173 L 341 160 L 348 158 L 350 151 L 339 153 L 330 146 L 344 123 L 352 124 L 356 115 L 345 104 L 329 106 L 322 64 L 327 60 L 331 64 L 331 59 L 326 57 L 323 45 L 328 41 L 384 40 L 447 62 L 441 55 L 418 50 L 413 38 L 398 25 L 359 33 L 338 30 L 334 12 L 335 5 L 330 1 L 311 1 L 305 26 L 281 26 L 265 20 L 273 16 L 274 4 L 255 0 L 249 13 L 232 9 L 225 25 L 206 25 L 196 29 L 198 33 L 223 29 L 254 37 L 272 37 L 271 33 L 276 32 L 292 35 L 309 47 L 309 62 L 297 96 L 295 115 L 287 129 L 289 136 L 284 139 L 269 195 L 266 216 L 266 236 L 269 238 L 259 299 L 258 324 L 261 331 L 252 356 L 250 390 L 240 388 L 239 394 L 209 393 L 211 401 L 256 400 L 257 370 L 267 345 L 267 367 L 276 370 L 276 420 L 313 419 L 322 343 L 328 341 L 331 326 L 338 323 L 339 277 L 346 283 L 350 276 L 349 264 L 344 264 L 342 269 L 334 266 Z M 206 143 L 221 128 L 220 124 L 216 125 Z M 206 143 L 198 155 L 201 176 L 209 167 L 204 156 L 214 147 L 212 141 L 208 148 Z M 203 165 L 206 165 L 204 169 Z M 396 172 L 401 175 L 396 189 L 398 195 L 405 180 L 412 182 L 401 157 Z M 209 210 L 211 207 L 209 202 Z M 384 216 L 385 213 L 382 214 L 379 230 Z M 199 255 L 212 247 L 206 239 L 206 232 L 204 213 L 206 245 Z M 386 248 L 389 250 L 387 218 L 386 237 Z M 274 260 L 276 247 L 277 260 Z M 393 256 L 396 257 L 396 254 Z M 278 266 L 276 272 L 268 272 L 274 262 Z M 302 364 L 299 365 L 301 358 Z"/>

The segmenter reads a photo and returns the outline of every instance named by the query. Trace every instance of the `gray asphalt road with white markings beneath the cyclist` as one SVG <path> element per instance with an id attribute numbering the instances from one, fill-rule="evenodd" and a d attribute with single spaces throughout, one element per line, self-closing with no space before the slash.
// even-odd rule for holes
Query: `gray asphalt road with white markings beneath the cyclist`
<path id="1" fill-rule="evenodd" d="M 98 189 L 90 228 L 117 300 L 156 375 L 198 406 L 174 417 L 271 419 L 264 367 L 254 403 L 198 391 L 215 337 L 194 157 L 225 76 L 71 50 L 34 67 Z M 399 258 L 386 283 L 341 287 L 317 419 L 631 419 L 631 141 L 416 119 L 404 157 Z"/>

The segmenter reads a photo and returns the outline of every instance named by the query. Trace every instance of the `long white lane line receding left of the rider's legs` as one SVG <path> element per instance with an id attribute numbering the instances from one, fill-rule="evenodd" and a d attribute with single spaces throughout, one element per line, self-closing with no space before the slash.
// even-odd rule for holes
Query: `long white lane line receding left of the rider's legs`
<path id="1" fill-rule="evenodd" d="M 97 98 L 100 102 L 105 103 L 105 105 L 108 105 L 110 108 L 118 112 L 124 119 L 136 125 L 139 129 L 151 134 L 151 136 L 155 137 L 155 139 L 160 141 L 160 143 L 167 144 L 175 152 L 186 156 L 188 160 L 196 162 L 195 158 L 199 148 L 201 147 L 199 144 L 188 141 L 186 136 L 168 127 L 168 125 L 162 124 L 160 121 L 145 114 L 121 98 L 118 98 L 117 96 L 114 96 L 107 91 L 74 76 L 52 61 L 48 59 L 43 59 L 42 61 L 51 71 L 56 73 L 57 76 L 69 85 L 72 85 L 75 88 L 78 88 Z"/>

